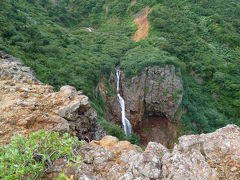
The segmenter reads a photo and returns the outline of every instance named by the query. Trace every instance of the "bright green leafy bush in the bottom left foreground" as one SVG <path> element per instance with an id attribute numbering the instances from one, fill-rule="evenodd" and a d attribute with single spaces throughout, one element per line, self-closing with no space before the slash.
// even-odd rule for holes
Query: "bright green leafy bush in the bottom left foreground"
<path id="1" fill-rule="evenodd" d="M 81 145 L 76 137 L 60 137 L 57 132 L 44 130 L 32 133 L 28 139 L 15 136 L 9 145 L 0 148 L 0 179 L 39 179 L 60 157 L 80 163 L 73 149 Z"/>

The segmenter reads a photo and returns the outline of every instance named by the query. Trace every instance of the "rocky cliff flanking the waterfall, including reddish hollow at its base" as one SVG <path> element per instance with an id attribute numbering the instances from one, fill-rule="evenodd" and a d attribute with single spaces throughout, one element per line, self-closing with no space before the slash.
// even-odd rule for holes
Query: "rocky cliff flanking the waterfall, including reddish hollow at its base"
<path id="1" fill-rule="evenodd" d="M 141 136 L 141 139 L 154 140 L 164 145 L 171 144 L 170 139 L 177 136 L 176 128 L 171 122 L 179 120 L 182 113 L 180 104 L 183 85 L 180 70 L 175 69 L 173 65 L 147 67 L 132 78 L 126 77 L 124 72 L 121 72 L 120 82 L 126 116 L 135 132 Z M 109 93 L 111 88 L 116 92 L 114 74 L 110 77 L 110 88 L 106 84 L 106 81 L 102 82 L 99 89 L 105 101 L 108 119 L 121 124 L 117 97 Z M 148 136 L 145 136 L 144 131 L 147 131 Z M 143 142 L 143 145 L 146 145 L 146 142 Z"/>

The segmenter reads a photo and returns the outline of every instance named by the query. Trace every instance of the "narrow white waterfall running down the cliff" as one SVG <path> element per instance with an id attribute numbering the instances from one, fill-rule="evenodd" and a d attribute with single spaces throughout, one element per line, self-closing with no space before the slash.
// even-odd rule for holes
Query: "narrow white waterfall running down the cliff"
<path id="1" fill-rule="evenodd" d="M 116 76 L 117 76 L 117 97 L 118 97 L 118 102 L 120 104 L 121 107 L 121 113 L 122 113 L 122 125 L 123 125 L 123 129 L 126 135 L 129 135 L 132 133 L 132 126 L 131 123 L 129 122 L 129 120 L 126 118 L 125 115 L 125 102 L 124 99 L 122 98 L 122 96 L 120 95 L 120 75 L 121 72 L 120 70 L 117 68 L 116 69 Z"/>

